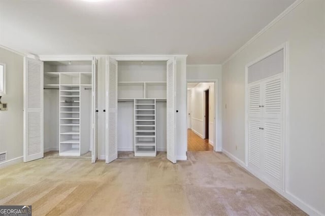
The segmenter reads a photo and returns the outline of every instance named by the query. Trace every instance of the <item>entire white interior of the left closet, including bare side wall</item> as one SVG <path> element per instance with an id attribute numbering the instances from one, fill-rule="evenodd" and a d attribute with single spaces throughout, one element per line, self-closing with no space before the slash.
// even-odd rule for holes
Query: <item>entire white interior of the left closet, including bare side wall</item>
<path id="1" fill-rule="evenodd" d="M 44 62 L 44 152 L 81 156 L 92 147 L 92 62 Z"/>

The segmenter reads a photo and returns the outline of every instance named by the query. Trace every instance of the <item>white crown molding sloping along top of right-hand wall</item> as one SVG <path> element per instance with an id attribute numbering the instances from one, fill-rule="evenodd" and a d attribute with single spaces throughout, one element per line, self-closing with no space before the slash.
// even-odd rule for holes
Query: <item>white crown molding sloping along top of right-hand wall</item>
<path id="1" fill-rule="evenodd" d="M 283 19 L 287 14 L 289 14 L 292 10 L 294 10 L 298 5 L 300 5 L 305 0 L 297 0 L 292 5 L 290 5 L 287 9 L 285 9 L 279 16 L 277 16 L 274 20 L 272 20 L 267 26 L 265 26 L 261 31 L 255 34 L 248 42 L 246 42 L 241 48 L 239 48 L 236 52 L 234 52 L 229 58 L 222 62 L 222 65 L 230 61 L 234 58 L 238 53 L 243 51 L 248 45 L 253 43 L 257 38 L 259 38 L 264 32 L 270 29 L 273 25 L 275 25 L 278 21 Z"/>

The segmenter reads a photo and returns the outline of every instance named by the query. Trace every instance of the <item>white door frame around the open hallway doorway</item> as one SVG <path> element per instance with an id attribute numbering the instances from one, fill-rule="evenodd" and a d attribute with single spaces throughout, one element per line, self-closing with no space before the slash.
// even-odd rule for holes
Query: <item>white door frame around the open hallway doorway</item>
<path id="1" fill-rule="evenodd" d="M 214 136 L 213 136 L 213 151 L 222 152 L 222 137 L 221 137 L 221 84 L 218 79 L 193 79 L 186 80 L 186 83 L 214 83 Z M 187 91 L 186 91 L 187 100 Z M 187 110 L 187 103 L 186 103 Z M 186 125 L 187 127 L 187 125 Z M 204 129 L 205 130 L 205 129 Z M 187 130 L 186 130 L 187 133 Z M 187 151 L 187 136 L 186 136 L 186 151 Z"/>

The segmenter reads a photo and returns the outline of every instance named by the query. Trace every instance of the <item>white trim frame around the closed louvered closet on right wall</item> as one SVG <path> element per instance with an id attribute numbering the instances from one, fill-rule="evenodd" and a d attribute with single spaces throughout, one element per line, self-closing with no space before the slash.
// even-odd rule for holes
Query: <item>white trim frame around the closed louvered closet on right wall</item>
<path id="1" fill-rule="evenodd" d="M 283 151 L 283 185 L 282 185 L 282 189 L 279 190 L 283 190 L 286 191 L 287 186 L 288 186 L 288 178 L 286 173 L 288 173 L 288 157 L 287 157 L 287 144 L 288 144 L 288 136 L 287 136 L 287 131 L 288 131 L 288 107 L 289 107 L 289 101 L 288 101 L 288 89 L 289 89 L 289 85 L 288 85 L 288 74 L 289 74 L 289 67 L 288 67 L 288 50 L 289 50 L 289 45 L 288 42 L 285 42 L 283 44 L 281 44 L 280 46 L 276 47 L 275 49 L 267 52 L 266 54 L 259 56 L 258 58 L 256 58 L 255 60 L 249 62 L 248 64 L 245 65 L 245 167 L 247 170 L 250 170 L 248 168 L 248 67 L 250 67 L 251 65 L 271 56 L 272 54 L 280 51 L 283 49 L 283 120 L 282 120 L 282 124 L 283 124 L 283 147 L 282 147 L 282 151 Z M 251 171 L 251 170 L 250 170 Z M 254 173 L 252 171 L 252 173 Z M 258 173 L 254 173 L 254 175 L 256 175 L 259 178 Z M 263 180 L 264 181 L 264 180 Z M 264 181 L 265 182 L 265 181 Z M 277 188 L 277 187 L 276 187 Z M 277 188 L 278 189 L 278 188 Z"/>

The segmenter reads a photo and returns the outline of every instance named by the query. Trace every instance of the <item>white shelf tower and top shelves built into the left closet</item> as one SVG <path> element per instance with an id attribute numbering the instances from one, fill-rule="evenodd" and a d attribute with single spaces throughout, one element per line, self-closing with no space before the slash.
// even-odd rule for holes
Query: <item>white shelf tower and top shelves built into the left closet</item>
<path id="1" fill-rule="evenodd" d="M 87 153 L 91 146 L 91 62 L 46 62 L 44 88 L 58 90 L 59 155 Z"/>

